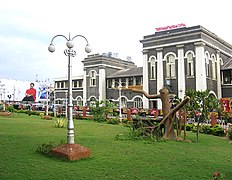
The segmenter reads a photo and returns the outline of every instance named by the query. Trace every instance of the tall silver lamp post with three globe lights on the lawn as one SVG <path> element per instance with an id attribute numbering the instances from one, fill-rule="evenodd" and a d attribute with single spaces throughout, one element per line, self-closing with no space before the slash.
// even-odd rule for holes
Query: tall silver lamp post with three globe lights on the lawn
<path id="1" fill-rule="evenodd" d="M 56 37 L 63 37 L 67 40 L 66 42 L 66 46 L 68 47 L 68 49 L 64 50 L 64 54 L 66 56 L 68 56 L 68 133 L 67 133 L 67 139 L 68 139 L 68 144 L 74 144 L 74 123 L 73 123 L 73 113 L 72 113 L 72 63 L 71 63 L 71 57 L 75 57 L 76 55 L 76 51 L 74 51 L 72 48 L 74 47 L 74 43 L 73 40 L 76 37 L 82 37 L 86 40 L 87 45 L 85 47 L 85 51 L 87 53 L 91 52 L 91 47 L 89 46 L 88 40 L 82 36 L 82 35 L 76 35 L 73 38 L 70 38 L 70 34 L 69 37 L 67 38 L 64 35 L 56 35 L 52 38 L 51 43 L 48 47 L 48 50 L 50 52 L 54 52 L 55 51 L 55 46 L 53 45 L 53 40 Z"/>

